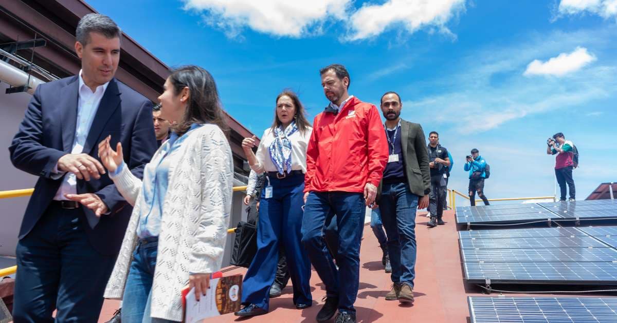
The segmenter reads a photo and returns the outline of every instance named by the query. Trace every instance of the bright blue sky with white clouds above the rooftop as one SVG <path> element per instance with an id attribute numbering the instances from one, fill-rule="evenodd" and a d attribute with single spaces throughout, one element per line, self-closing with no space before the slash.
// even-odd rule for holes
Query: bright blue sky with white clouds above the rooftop
<path id="1" fill-rule="evenodd" d="M 258 136 L 283 89 L 310 119 L 323 110 L 318 70 L 342 63 L 350 94 L 399 92 L 402 118 L 439 132 L 450 188 L 466 191 L 463 161 L 478 148 L 488 197 L 553 195 L 555 132 L 580 151 L 578 199 L 617 180 L 617 0 L 88 3 L 167 65 L 209 70 L 226 111 Z"/>

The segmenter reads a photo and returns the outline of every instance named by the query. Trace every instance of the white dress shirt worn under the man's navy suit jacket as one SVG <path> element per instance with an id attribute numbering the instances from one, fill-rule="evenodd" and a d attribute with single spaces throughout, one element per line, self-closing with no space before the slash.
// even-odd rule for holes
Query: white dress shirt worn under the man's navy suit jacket
<path id="1" fill-rule="evenodd" d="M 101 99 L 105 94 L 109 82 L 102 86 L 97 86 L 96 90 L 92 90 L 86 86 L 81 77 L 81 70 L 79 71 L 79 92 L 77 98 L 77 124 L 75 125 L 75 140 L 73 140 L 73 149 L 71 154 L 80 154 L 83 151 L 83 146 L 86 144 L 86 138 L 90 132 L 90 126 L 94 120 L 96 110 L 99 108 Z M 55 173 L 59 173 L 56 164 Z M 62 173 L 59 173 L 62 175 Z M 56 192 L 55 200 L 65 200 L 64 194 L 77 194 L 77 178 L 74 173 L 67 173 L 62 180 L 60 188 Z"/>

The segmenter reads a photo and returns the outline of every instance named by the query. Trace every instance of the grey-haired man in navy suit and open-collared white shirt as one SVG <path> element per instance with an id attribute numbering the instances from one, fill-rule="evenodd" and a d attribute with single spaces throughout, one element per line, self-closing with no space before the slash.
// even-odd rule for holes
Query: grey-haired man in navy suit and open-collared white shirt
<path id="1" fill-rule="evenodd" d="M 152 103 L 114 79 L 120 28 L 99 14 L 77 26 L 77 76 L 41 84 L 11 143 L 15 167 L 38 175 L 17 244 L 15 323 L 96 322 L 132 207 L 101 163 L 122 142 L 141 177 L 156 150 Z"/>

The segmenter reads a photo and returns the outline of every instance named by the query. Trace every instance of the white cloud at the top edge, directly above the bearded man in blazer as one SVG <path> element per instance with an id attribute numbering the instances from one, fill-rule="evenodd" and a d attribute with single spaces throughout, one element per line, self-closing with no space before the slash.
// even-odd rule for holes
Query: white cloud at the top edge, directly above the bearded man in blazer
<path id="1" fill-rule="evenodd" d="M 349 40 L 365 39 L 400 24 L 410 33 L 427 27 L 452 35 L 445 26 L 465 10 L 465 0 L 388 0 L 384 4 L 368 4 L 350 18 Z"/>

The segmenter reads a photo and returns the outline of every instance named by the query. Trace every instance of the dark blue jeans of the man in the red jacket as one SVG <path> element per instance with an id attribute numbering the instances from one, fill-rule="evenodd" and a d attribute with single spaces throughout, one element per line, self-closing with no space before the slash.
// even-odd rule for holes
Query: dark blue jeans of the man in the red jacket
<path id="1" fill-rule="evenodd" d="M 338 270 L 323 238 L 326 223 L 334 214 L 338 231 Z M 339 312 L 355 313 L 364 217 L 362 193 L 311 192 L 304 205 L 302 243 L 315 271 L 326 285 L 326 296 L 339 299 Z"/>

